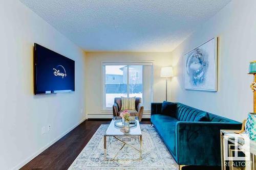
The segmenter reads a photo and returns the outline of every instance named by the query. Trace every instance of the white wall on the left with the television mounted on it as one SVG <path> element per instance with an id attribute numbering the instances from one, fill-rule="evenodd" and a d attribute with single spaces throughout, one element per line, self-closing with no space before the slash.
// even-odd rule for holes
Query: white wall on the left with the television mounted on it
<path id="1" fill-rule="evenodd" d="M 16 169 L 85 118 L 85 57 L 17 0 L 1 1 L 0 25 L 0 169 Z M 75 92 L 33 94 L 34 42 L 75 60 Z"/>

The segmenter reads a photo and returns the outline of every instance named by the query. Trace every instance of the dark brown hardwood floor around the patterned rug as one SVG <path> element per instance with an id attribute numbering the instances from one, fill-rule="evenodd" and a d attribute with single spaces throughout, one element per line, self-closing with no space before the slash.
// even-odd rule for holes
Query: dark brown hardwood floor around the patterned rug
<path id="1" fill-rule="evenodd" d="M 85 120 L 74 130 L 63 136 L 51 147 L 39 154 L 20 169 L 68 169 L 82 149 L 89 142 L 101 124 L 109 124 L 111 120 Z M 141 124 L 151 124 L 149 119 L 143 119 Z M 184 170 L 216 170 L 219 167 L 185 167 Z"/>

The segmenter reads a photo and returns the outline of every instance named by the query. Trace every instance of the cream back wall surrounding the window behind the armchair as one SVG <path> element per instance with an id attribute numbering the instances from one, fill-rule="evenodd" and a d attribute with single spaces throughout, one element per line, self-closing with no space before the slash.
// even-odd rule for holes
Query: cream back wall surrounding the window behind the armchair
<path id="1" fill-rule="evenodd" d="M 112 111 L 102 110 L 102 62 L 153 61 L 153 101 L 165 100 L 165 78 L 160 77 L 162 66 L 171 64 L 170 53 L 90 52 L 86 53 L 86 114 L 88 118 L 112 117 Z M 168 79 L 170 81 L 170 79 Z M 170 89 L 168 89 L 170 92 Z M 147 114 L 147 115 L 146 115 Z M 144 117 L 150 117 L 144 112 Z"/>

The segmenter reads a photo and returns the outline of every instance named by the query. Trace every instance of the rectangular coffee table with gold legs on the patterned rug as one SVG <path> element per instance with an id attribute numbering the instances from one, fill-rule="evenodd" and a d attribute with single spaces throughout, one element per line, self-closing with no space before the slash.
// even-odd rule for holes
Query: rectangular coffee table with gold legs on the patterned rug
<path id="1" fill-rule="evenodd" d="M 108 129 L 106 130 L 105 134 L 104 134 L 104 159 L 105 160 L 142 160 L 142 134 L 141 134 L 141 130 L 140 130 L 140 124 L 139 124 L 139 120 L 138 117 L 135 117 L 135 122 L 136 122 L 136 126 L 129 128 L 130 130 L 127 131 L 127 129 L 124 129 L 124 127 L 120 128 L 115 126 L 115 122 L 116 121 L 120 121 L 120 117 L 114 117 L 108 127 Z M 110 142 L 107 143 L 107 137 L 110 137 Z M 135 145 L 131 144 L 131 143 L 127 143 L 126 140 L 123 140 L 122 138 L 137 138 L 139 141 L 139 148 L 136 148 Z M 113 158 L 107 158 L 107 152 L 109 151 L 112 141 L 113 139 L 117 139 L 117 141 L 122 143 L 122 147 L 115 153 Z M 107 149 L 107 144 L 108 145 L 108 149 Z M 124 149 L 124 147 L 130 147 L 133 149 L 134 152 L 139 153 L 139 158 L 138 159 L 117 159 L 118 154 L 120 153 L 120 151 L 122 151 Z M 136 154 L 136 153 L 135 153 Z"/>

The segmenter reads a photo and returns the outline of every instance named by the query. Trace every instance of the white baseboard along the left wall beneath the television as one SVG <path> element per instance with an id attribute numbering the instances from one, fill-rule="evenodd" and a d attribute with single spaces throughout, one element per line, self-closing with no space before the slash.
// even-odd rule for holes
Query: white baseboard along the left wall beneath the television
<path id="1" fill-rule="evenodd" d="M 29 161 L 31 161 L 32 159 L 34 159 L 36 156 L 38 156 L 40 153 L 44 152 L 47 148 L 49 148 L 53 143 L 55 143 L 56 141 L 58 141 L 60 138 L 62 138 L 63 136 L 65 136 L 66 134 L 68 134 L 70 131 L 72 131 L 73 129 L 75 129 L 78 125 L 80 125 L 84 120 L 86 120 L 86 117 L 84 117 L 82 120 L 80 120 L 80 122 L 78 122 L 77 124 L 75 124 L 73 127 L 71 127 L 70 129 L 68 129 L 66 132 L 62 133 L 61 135 L 59 135 L 58 137 L 56 137 L 54 140 L 52 140 L 51 142 L 49 142 L 47 145 L 45 145 L 45 147 L 42 147 L 41 149 L 39 149 L 37 152 L 35 152 L 33 155 L 31 155 L 30 157 L 28 157 L 27 159 L 25 159 L 24 161 L 22 161 L 21 163 L 19 163 L 18 165 L 16 165 L 15 167 L 13 167 L 12 169 L 19 169 L 21 167 L 23 167 L 24 165 L 26 165 Z"/>

